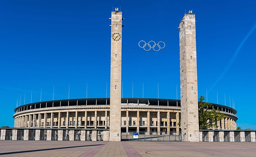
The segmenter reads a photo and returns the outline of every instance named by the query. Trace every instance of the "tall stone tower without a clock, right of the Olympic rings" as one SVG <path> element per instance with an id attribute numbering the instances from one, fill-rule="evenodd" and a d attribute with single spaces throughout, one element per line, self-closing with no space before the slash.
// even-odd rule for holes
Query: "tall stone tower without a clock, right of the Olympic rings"
<path id="1" fill-rule="evenodd" d="M 184 141 L 199 142 L 195 14 L 185 14 L 180 29 L 181 128 Z"/>

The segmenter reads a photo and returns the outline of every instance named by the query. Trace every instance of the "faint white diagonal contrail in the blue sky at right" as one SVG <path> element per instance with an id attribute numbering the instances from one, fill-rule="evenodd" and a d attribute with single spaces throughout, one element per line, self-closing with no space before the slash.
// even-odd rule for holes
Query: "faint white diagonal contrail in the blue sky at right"
<path id="1" fill-rule="evenodd" d="M 236 59 L 236 56 L 238 55 L 238 52 L 240 51 L 240 49 L 242 48 L 242 46 L 244 45 L 244 43 L 246 42 L 246 40 L 249 38 L 249 36 L 253 33 L 253 31 L 256 29 L 256 22 L 254 24 L 254 26 L 252 27 L 252 29 L 250 29 L 250 31 L 247 33 L 247 35 L 245 36 L 245 38 L 243 39 L 243 41 L 239 44 L 236 52 L 233 54 L 233 56 L 231 57 L 231 59 L 229 60 L 227 66 L 225 67 L 225 69 L 222 71 L 222 73 L 220 74 L 219 78 L 217 79 L 217 81 L 212 85 L 212 87 L 210 88 L 209 92 L 212 90 L 212 88 L 222 79 L 222 77 L 227 73 L 227 71 L 229 70 L 230 66 L 233 64 L 233 62 Z"/>

